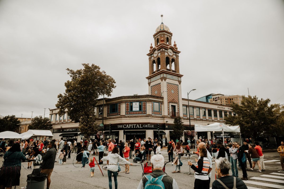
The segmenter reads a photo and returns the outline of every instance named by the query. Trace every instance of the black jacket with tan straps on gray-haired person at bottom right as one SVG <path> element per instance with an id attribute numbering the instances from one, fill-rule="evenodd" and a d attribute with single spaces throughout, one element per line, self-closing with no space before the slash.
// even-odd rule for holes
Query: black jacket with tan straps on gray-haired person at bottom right
<path id="1" fill-rule="evenodd" d="M 240 179 L 236 178 L 236 188 L 237 189 L 247 189 L 246 184 Z M 228 188 L 233 188 L 234 186 L 234 177 L 233 176 L 224 176 L 219 178 Z M 212 183 L 212 189 L 225 189 L 224 186 L 217 180 Z"/>

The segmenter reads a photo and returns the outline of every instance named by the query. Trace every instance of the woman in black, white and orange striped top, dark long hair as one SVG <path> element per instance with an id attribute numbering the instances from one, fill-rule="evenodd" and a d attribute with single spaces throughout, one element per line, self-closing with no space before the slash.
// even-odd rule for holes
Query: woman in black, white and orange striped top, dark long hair
<path id="1" fill-rule="evenodd" d="M 195 181 L 194 189 L 209 189 L 209 177 L 208 174 L 212 170 L 210 168 L 210 162 L 207 158 L 207 150 L 205 148 L 199 149 L 200 159 L 197 161 L 196 166 L 194 166 L 190 161 L 188 165 L 191 166 L 191 169 L 195 171 Z"/>

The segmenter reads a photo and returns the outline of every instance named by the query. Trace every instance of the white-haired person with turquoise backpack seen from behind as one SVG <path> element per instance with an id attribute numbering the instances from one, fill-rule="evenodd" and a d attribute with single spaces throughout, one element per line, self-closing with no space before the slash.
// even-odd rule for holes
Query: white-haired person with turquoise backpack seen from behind
<path id="1" fill-rule="evenodd" d="M 151 166 L 153 172 L 141 179 L 137 189 L 144 189 L 146 183 L 147 185 L 150 184 L 150 185 L 160 185 L 160 186 L 163 184 L 164 185 L 163 188 L 167 189 L 179 189 L 175 179 L 164 173 L 163 171 L 164 161 L 165 161 L 164 157 L 161 154 L 155 154 L 152 156 Z M 152 179 L 152 178 L 158 178 L 158 179 Z"/>

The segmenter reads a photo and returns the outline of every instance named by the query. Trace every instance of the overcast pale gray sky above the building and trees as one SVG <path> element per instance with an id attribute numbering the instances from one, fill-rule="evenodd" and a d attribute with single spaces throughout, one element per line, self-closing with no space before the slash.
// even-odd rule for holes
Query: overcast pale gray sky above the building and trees
<path id="1" fill-rule="evenodd" d="M 181 51 L 183 98 L 193 88 L 190 99 L 248 95 L 249 87 L 251 95 L 284 104 L 283 0 L 2 0 L 0 115 L 55 108 L 70 78 L 66 68 L 82 63 L 115 79 L 112 97 L 147 94 L 146 54 L 160 14 Z"/>

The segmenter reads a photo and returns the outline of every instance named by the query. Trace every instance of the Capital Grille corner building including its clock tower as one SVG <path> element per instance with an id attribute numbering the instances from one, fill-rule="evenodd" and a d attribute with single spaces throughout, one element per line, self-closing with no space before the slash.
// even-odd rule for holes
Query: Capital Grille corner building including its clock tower
<path id="1" fill-rule="evenodd" d="M 151 43 L 149 53 L 149 75 L 146 77 L 149 93 L 146 95 L 120 96 L 115 98 L 99 99 L 97 103 L 97 124 L 104 120 L 104 138 L 128 140 L 132 138 L 158 138 L 157 124 L 160 128 L 160 137 L 167 140 L 171 136 L 174 118 L 180 116 L 185 126 L 183 141 L 189 137 L 189 130 L 194 130 L 195 124 L 207 125 L 214 122 L 223 122 L 223 118 L 232 114 L 230 106 L 188 100 L 181 96 L 181 78 L 179 71 L 179 53 L 176 42 L 172 45 L 170 29 L 161 23 Z M 103 107 L 104 104 L 104 107 Z M 59 109 L 50 110 L 50 119 L 53 121 L 54 138 L 65 136 L 83 138 L 78 130 L 78 123 L 68 119 L 68 114 L 58 117 Z M 104 118 L 103 118 L 104 116 Z M 65 117 L 65 119 L 64 119 Z M 191 125 L 189 124 L 191 120 Z M 61 121 L 60 121 L 61 120 Z M 65 120 L 65 121 L 64 121 Z M 70 134 L 70 135 L 69 135 Z M 198 133 L 198 136 L 211 138 L 210 132 Z M 94 134 L 93 139 L 99 135 Z"/>

